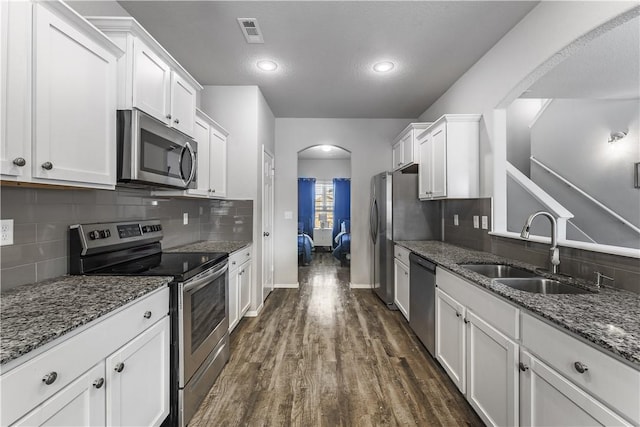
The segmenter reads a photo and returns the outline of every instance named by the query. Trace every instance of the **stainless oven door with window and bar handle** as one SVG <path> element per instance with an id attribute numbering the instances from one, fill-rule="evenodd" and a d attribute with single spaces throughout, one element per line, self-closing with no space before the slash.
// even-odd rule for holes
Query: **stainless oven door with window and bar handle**
<path id="1" fill-rule="evenodd" d="M 184 387 L 229 329 L 225 260 L 178 286 L 179 386 Z"/>

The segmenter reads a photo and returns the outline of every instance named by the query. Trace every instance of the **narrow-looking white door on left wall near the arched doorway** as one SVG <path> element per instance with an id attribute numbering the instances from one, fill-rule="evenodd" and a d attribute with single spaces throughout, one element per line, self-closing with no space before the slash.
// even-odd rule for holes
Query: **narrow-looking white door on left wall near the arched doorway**
<path id="1" fill-rule="evenodd" d="M 273 156 L 262 157 L 262 300 L 273 290 Z"/>

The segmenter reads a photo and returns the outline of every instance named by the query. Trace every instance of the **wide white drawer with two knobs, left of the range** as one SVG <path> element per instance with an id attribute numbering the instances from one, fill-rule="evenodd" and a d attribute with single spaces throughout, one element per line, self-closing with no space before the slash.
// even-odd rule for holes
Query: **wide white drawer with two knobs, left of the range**
<path id="1" fill-rule="evenodd" d="M 148 319 L 146 312 L 151 312 Z M 60 338 L 57 346 L 2 375 L 0 425 L 16 421 L 168 313 L 169 288 L 164 287 L 71 338 Z M 43 377 L 53 372 L 55 381 L 45 384 Z"/>

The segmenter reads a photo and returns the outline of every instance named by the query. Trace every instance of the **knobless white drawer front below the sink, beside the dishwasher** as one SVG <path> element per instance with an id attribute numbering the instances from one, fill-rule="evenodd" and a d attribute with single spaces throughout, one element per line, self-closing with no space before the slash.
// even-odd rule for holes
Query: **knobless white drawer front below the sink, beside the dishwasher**
<path id="1" fill-rule="evenodd" d="M 518 339 L 520 310 L 515 306 L 440 267 L 436 285 L 509 338 Z"/>

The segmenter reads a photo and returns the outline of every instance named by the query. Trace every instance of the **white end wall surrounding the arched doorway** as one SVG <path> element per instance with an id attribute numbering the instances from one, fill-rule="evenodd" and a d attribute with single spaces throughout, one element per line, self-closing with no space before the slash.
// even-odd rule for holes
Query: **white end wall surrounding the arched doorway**
<path id="1" fill-rule="evenodd" d="M 369 192 L 371 177 L 391 169 L 391 141 L 410 119 L 276 119 L 275 283 L 298 283 L 297 155 L 329 144 L 351 152 L 351 282 L 370 283 Z M 286 211 L 292 219 L 284 219 Z"/>

